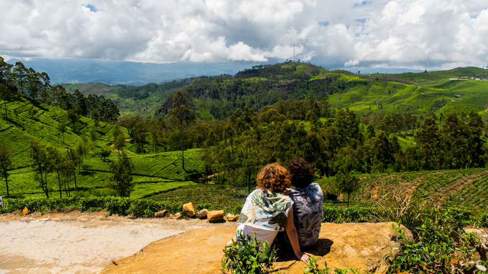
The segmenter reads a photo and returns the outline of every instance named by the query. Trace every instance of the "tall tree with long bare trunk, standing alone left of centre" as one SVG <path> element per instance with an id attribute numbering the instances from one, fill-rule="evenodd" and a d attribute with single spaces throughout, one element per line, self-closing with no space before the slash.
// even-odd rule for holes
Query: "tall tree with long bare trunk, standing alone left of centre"
<path id="1" fill-rule="evenodd" d="M 171 116 L 169 121 L 180 130 L 181 146 L 182 146 L 182 164 L 184 168 L 184 146 L 183 146 L 183 131 L 185 127 L 193 121 L 193 110 L 190 110 L 186 105 L 186 98 L 181 91 L 176 92 L 173 96 L 173 108 L 169 110 Z"/>

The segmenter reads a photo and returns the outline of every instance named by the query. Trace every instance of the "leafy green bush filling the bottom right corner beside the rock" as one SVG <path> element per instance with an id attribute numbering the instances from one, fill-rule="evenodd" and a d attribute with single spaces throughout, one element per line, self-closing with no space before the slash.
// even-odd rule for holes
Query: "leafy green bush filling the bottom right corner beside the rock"
<path id="1" fill-rule="evenodd" d="M 457 215 L 453 217 L 448 210 L 440 210 L 435 216 L 440 218 L 427 217 L 412 231 L 417 241 L 408 239 L 400 225 L 392 225 L 403 243 L 386 256 L 391 263 L 390 273 L 468 274 L 486 271 L 486 239 L 484 243 L 474 233 L 466 233 L 462 228 L 463 221 L 457 219 Z M 396 255 L 394 250 L 398 250 Z"/>

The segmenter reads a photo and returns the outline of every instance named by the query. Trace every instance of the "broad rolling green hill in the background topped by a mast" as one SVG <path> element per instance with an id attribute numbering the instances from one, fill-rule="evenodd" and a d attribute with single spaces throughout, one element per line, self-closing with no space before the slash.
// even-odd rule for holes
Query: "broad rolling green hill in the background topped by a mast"
<path id="1" fill-rule="evenodd" d="M 452 80 L 463 77 L 487 78 L 488 70 L 456 68 L 428 73 L 356 74 L 343 70 L 327 71 L 306 63 L 279 63 L 255 66 L 234 77 L 196 77 L 142 87 L 105 84 L 64 85 L 110 98 L 122 115 L 140 114 L 150 118 L 155 112 L 166 114 L 172 94 L 182 90 L 193 101 L 196 118 L 222 119 L 245 105 L 259 110 L 283 99 L 328 98 L 336 108 L 359 113 L 488 114 L 488 81 Z M 193 80 L 193 81 L 190 81 Z M 162 83 L 163 84 L 163 83 Z M 122 95 L 122 96 L 121 96 Z M 191 99 L 191 100 L 190 100 Z"/>

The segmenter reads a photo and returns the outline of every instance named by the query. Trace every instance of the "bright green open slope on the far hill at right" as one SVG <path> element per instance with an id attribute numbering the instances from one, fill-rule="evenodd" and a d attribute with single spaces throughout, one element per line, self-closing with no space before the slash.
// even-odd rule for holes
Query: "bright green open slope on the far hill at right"
<path id="1" fill-rule="evenodd" d="M 439 74 L 439 78 L 441 76 L 449 77 Z M 347 81 L 360 79 L 346 75 L 340 78 Z M 371 78 L 374 78 L 374 74 Z M 480 115 L 487 115 L 488 81 L 444 79 L 422 83 L 422 86 L 372 79 L 369 82 L 368 86 L 356 86 L 344 93 L 332 94 L 329 96 L 330 103 L 338 108 L 349 108 L 358 112 L 425 114 L 432 111 L 435 101 L 445 99 L 447 104 L 435 110 L 436 114 L 468 113 L 474 110 Z"/>

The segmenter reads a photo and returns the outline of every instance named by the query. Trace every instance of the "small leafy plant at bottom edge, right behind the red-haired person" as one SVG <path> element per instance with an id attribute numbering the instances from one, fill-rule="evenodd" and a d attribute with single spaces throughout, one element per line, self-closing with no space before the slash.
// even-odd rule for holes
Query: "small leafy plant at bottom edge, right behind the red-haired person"
<path id="1" fill-rule="evenodd" d="M 230 273 L 270 273 L 274 271 L 276 249 L 270 248 L 267 241 L 260 241 L 256 233 L 252 236 L 238 233 L 232 245 L 224 250 L 222 269 Z"/>

